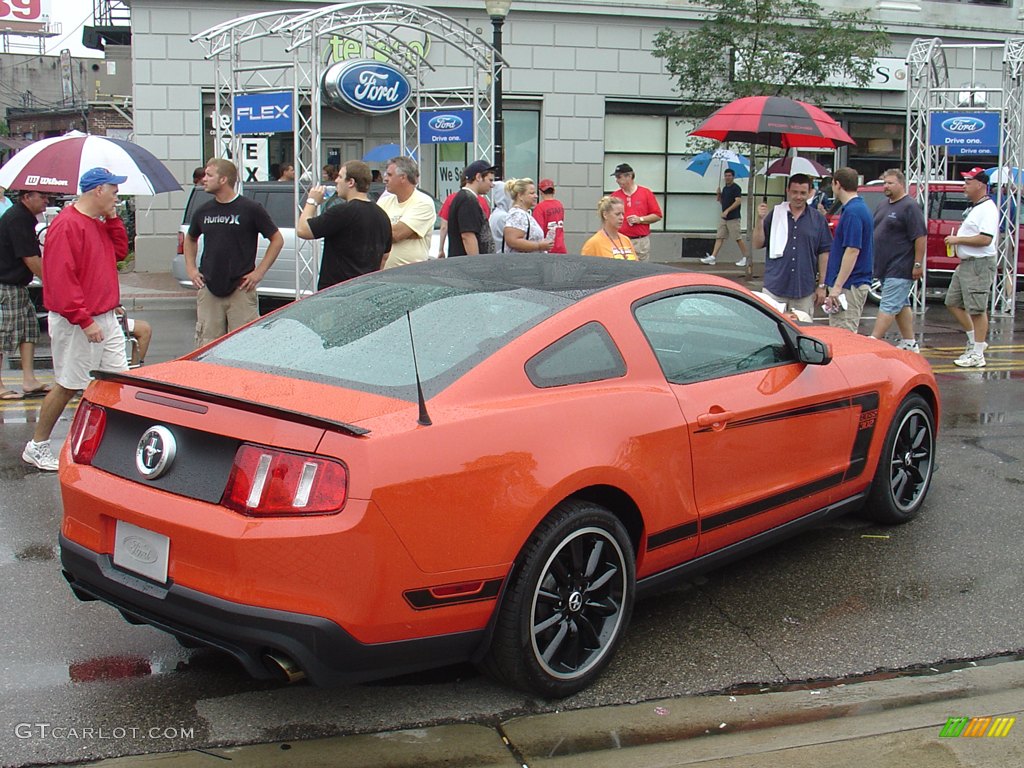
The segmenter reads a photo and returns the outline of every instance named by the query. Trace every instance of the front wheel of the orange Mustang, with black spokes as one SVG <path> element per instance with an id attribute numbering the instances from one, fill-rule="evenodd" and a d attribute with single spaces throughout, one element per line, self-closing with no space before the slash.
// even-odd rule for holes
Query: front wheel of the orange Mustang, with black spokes
<path id="1" fill-rule="evenodd" d="M 874 471 L 864 514 L 897 525 L 912 520 L 928 495 L 935 471 L 935 416 L 919 394 L 896 410 Z"/>

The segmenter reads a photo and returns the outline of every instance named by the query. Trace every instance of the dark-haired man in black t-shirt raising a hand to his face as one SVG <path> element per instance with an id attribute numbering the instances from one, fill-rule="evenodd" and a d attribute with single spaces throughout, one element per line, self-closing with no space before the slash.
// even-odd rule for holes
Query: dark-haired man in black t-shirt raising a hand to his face
<path id="1" fill-rule="evenodd" d="M 318 290 L 380 269 L 391 251 L 391 219 L 367 195 L 372 177 L 366 163 L 346 162 L 335 179 L 335 198 L 344 203 L 319 216 L 313 214 L 323 205 L 326 189 L 316 185 L 309 190 L 295 234 L 303 240 L 324 239 Z"/>

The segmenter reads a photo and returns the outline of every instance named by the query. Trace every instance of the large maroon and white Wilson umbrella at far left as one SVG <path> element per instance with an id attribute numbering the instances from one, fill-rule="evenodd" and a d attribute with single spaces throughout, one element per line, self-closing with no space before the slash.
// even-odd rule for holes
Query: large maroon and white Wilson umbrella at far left
<path id="1" fill-rule="evenodd" d="M 8 189 L 75 195 L 78 179 L 90 168 L 105 168 L 128 179 L 119 195 L 176 191 L 181 184 L 157 157 L 138 144 L 79 131 L 29 144 L 0 168 L 0 186 Z"/>

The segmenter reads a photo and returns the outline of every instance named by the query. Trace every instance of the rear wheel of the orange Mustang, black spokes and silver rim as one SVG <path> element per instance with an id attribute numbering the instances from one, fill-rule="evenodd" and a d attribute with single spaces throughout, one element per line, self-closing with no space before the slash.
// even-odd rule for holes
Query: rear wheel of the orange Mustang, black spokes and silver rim
<path id="1" fill-rule="evenodd" d="M 483 671 L 547 698 L 586 688 L 614 655 L 633 612 L 636 559 L 603 507 L 563 502 L 510 574 Z"/>

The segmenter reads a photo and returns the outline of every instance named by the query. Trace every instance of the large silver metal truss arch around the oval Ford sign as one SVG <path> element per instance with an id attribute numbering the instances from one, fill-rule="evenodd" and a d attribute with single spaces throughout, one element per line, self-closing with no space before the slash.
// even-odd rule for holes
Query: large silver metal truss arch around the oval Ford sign
<path id="1" fill-rule="evenodd" d="M 410 32 L 424 35 L 442 47 L 456 48 L 464 57 L 464 75 L 445 63 L 449 82 L 431 82 L 438 70 L 429 51 L 403 39 Z M 364 55 L 383 56 L 409 78 L 413 97 L 399 112 L 399 146 L 403 155 L 419 155 L 419 113 L 426 109 L 472 109 L 472 154 L 494 154 L 495 84 L 507 61 L 494 46 L 455 18 L 407 2 L 348 2 L 304 11 L 265 11 L 230 19 L 193 36 L 215 65 L 214 100 L 218 115 L 230 109 L 237 95 L 258 91 L 293 93 L 295 218 L 304 197 L 300 184 L 319 178 L 321 125 L 325 109 L 322 82 L 334 62 L 327 43 L 337 36 L 360 44 Z M 274 48 L 274 44 L 279 47 Z M 452 57 L 445 57 L 445 61 Z M 454 77 L 456 76 L 456 77 Z M 460 80 L 461 82 L 452 82 Z M 238 158 L 242 140 L 226 133 L 217 121 L 216 145 Z M 243 182 L 244 183 L 244 182 Z M 296 242 L 296 298 L 312 293 L 319 271 L 319 242 Z"/>

